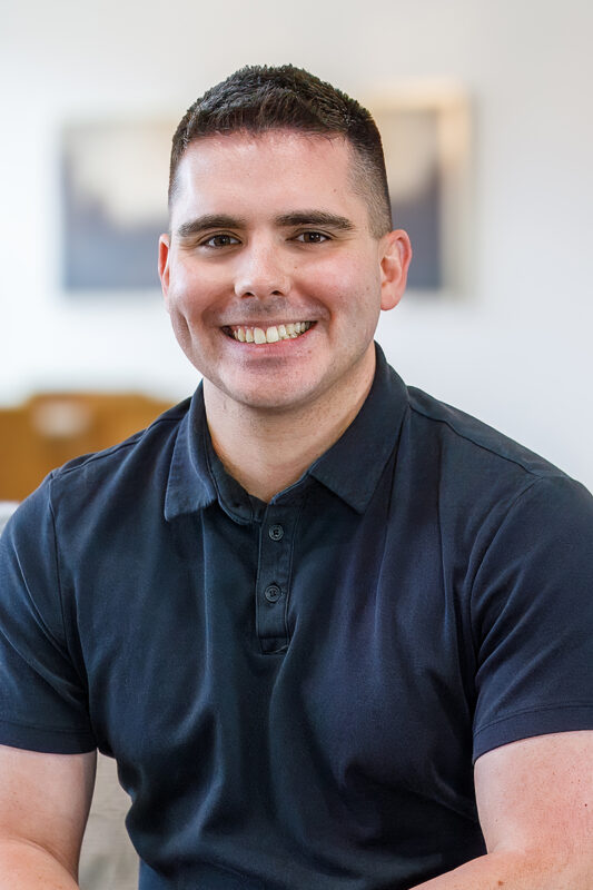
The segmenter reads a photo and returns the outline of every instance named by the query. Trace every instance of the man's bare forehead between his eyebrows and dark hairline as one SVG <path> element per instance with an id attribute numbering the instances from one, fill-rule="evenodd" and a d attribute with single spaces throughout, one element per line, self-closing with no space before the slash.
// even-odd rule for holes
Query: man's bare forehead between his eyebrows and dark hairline
<path id="1" fill-rule="evenodd" d="M 353 151 L 342 136 L 294 130 L 200 137 L 186 149 L 176 176 L 171 214 L 237 212 L 318 207 L 356 216 Z"/>

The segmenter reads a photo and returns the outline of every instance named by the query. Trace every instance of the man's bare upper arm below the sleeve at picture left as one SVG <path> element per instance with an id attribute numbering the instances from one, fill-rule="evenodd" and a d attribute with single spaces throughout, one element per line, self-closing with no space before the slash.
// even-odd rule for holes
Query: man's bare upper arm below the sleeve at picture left
<path id="1" fill-rule="evenodd" d="M 0 841 L 48 850 L 78 873 L 97 754 L 46 754 L 0 745 Z"/>

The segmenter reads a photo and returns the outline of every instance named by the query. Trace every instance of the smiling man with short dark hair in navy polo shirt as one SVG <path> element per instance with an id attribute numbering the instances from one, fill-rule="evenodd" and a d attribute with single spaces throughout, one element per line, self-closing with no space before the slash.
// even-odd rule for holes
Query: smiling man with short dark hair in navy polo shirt
<path id="1" fill-rule="evenodd" d="M 142 890 L 593 886 L 592 500 L 386 364 L 388 208 L 304 71 L 181 121 L 159 270 L 204 383 L 7 527 L 0 888 L 77 886 L 96 748 Z"/>

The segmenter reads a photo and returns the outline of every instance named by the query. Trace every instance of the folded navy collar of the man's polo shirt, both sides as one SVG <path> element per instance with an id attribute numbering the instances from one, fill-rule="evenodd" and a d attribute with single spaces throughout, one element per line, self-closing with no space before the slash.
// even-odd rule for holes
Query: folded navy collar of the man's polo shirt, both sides
<path id="1" fill-rule="evenodd" d="M 408 404 L 405 384 L 387 364 L 378 344 L 375 344 L 375 352 L 373 385 L 353 423 L 309 466 L 302 479 L 276 495 L 273 502 L 281 502 L 289 492 L 313 477 L 358 513 L 366 510 L 397 445 Z M 241 492 L 243 496 L 239 496 Z M 253 521 L 253 502 L 241 486 L 225 474 L 214 455 L 200 383 L 177 434 L 165 497 L 165 518 L 194 513 L 217 500 L 237 522 Z"/>

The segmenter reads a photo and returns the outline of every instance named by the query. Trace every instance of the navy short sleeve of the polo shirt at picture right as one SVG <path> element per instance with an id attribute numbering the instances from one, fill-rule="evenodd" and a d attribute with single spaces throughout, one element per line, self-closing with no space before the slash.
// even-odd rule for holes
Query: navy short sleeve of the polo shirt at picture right
<path id="1" fill-rule="evenodd" d="M 474 760 L 520 739 L 593 730 L 593 497 L 563 476 L 525 490 L 472 590 Z"/>

